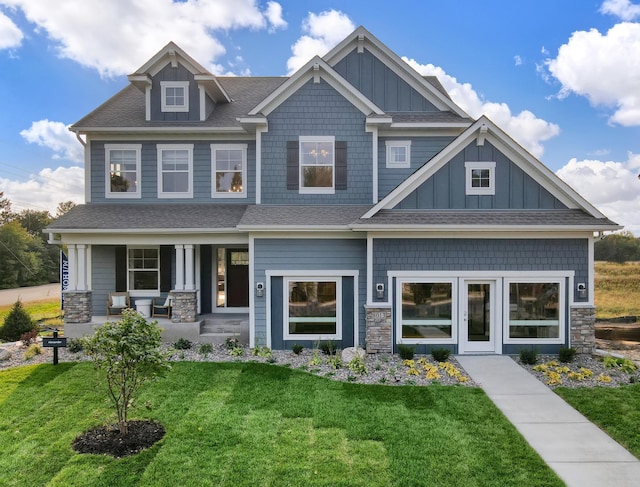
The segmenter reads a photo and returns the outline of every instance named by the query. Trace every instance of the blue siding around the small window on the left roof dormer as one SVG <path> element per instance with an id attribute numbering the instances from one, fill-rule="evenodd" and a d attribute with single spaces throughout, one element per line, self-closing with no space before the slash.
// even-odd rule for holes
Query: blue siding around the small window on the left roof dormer
<path id="1" fill-rule="evenodd" d="M 161 81 L 189 82 L 189 111 L 163 112 Z M 159 122 L 185 122 L 200 120 L 200 90 L 193 75 L 182 64 L 177 68 L 167 64 L 151 80 L 151 120 Z"/>

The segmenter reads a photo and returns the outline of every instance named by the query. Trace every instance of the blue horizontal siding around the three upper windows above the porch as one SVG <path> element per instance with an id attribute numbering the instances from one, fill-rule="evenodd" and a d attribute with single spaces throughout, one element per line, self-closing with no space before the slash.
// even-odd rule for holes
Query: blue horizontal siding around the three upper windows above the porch
<path id="1" fill-rule="evenodd" d="M 171 202 L 215 202 L 215 203 L 255 203 L 256 188 L 256 144 L 255 141 L 174 141 L 162 140 L 158 144 L 193 144 L 193 198 L 158 199 L 158 151 L 155 142 L 109 141 L 107 144 L 142 144 L 142 198 L 105 198 L 105 142 L 91 142 L 91 201 L 94 203 L 149 203 L 150 201 Z M 211 144 L 247 144 L 247 197 L 212 198 Z"/>

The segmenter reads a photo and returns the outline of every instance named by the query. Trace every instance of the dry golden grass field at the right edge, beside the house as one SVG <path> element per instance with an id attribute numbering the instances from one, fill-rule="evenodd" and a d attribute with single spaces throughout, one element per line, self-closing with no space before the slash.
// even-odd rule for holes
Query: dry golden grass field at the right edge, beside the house
<path id="1" fill-rule="evenodd" d="M 595 263 L 596 317 L 640 316 L 640 262 Z"/>

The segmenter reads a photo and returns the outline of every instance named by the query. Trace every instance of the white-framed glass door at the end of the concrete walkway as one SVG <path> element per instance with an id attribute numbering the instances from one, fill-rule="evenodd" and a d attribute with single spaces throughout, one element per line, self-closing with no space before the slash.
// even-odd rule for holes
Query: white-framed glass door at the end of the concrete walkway
<path id="1" fill-rule="evenodd" d="M 462 279 L 460 353 L 499 353 L 495 281 Z"/>

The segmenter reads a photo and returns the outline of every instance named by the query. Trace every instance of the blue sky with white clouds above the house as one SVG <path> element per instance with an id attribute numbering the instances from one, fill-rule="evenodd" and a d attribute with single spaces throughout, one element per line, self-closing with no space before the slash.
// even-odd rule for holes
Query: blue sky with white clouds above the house
<path id="1" fill-rule="evenodd" d="M 67 127 L 171 40 L 217 75 L 285 76 L 359 25 L 640 236 L 638 0 L 0 0 L 0 191 L 82 203 Z"/>

